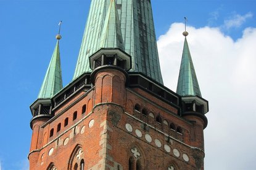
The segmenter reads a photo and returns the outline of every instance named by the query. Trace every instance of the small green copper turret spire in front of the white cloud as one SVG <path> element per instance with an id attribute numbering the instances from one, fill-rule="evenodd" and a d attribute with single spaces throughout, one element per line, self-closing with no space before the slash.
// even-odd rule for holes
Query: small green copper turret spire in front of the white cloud
<path id="1" fill-rule="evenodd" d="M 194 69 L 186 39 L 188 32 L 185 31 L 183 35 L 185 36 L 185 41 L 176 93 L 181 96 L 201 96 L 199 84 L 196 78 L 196 71 Z"/>

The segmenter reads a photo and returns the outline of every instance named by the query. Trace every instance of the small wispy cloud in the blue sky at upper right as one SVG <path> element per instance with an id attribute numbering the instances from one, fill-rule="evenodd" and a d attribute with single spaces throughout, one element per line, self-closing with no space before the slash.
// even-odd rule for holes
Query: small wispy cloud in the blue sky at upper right
<path id="1" fill-rule="evenodd" d="M 245 23 L 248 18 L 252 18 L 252 17 L 253 17 L 252 12 L 248 12 L 246 15 L 234 14 L 228 20 L 224 21 L 224 27 L 226 29 L 233 28 L 233 27 L 239 28 L 239 26 Z"/>

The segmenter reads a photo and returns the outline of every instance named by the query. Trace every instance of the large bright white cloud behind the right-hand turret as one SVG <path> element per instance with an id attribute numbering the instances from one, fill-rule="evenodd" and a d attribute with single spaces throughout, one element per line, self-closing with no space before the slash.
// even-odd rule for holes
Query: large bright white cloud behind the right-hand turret
<path id="1" fill-rule="evenodd" d="M 163 80 L 173 91 L 183 50 L 183 29 L 182 23 L 173 23 L 157 42 Z M 190 26 L 187 30 L 200 90 L 210 107 L 206 115 L 205 169 L 256 169 L 256 111 L 252 107 L 256 28 L 245 29 L 236 41 L 218 28 Z"/>

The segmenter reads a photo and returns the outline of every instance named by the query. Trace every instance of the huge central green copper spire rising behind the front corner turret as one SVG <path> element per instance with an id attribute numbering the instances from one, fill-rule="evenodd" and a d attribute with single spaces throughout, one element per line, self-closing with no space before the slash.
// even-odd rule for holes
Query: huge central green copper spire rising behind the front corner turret
<path id="1" fill-rule="evenodd" d="M 119 30 L 122 33 L 119 33 Z M 163 83 L 150 0 L 91 1 L 73 79 L 83 72 L 91 72 L 89 56 L 99 50 L 99 44 L 115 48 L 121 44 L 122 40 L 125 52 L 131 55 L 130 71 L 142 72 L 157 82 Z M 112 43 L 109 43 L 110 41 Z"/>

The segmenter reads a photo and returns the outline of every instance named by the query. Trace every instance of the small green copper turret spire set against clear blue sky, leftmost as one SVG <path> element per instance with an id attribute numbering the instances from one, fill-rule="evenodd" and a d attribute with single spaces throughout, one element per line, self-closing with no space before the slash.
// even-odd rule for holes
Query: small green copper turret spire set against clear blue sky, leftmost
<path id="1" fill-rule="evenodd" d="M 46 75 L 44 77 L 44 82 L 39 91 L 38 98 L 51 98 L 58 91 L 62 89 L 62 75 L 60 67 L 60 52 L 59 52 L 59 39 L 61 36 L 58 34 L 56 36 L 57 44 L 52 54 L 52 58 Z"/>

